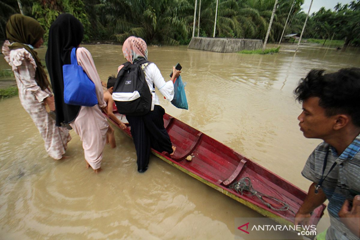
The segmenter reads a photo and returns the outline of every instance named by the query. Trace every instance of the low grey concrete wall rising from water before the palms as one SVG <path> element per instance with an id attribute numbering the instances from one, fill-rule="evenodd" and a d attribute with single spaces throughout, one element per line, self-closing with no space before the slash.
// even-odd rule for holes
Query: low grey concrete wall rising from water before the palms
<path id="1" fill-rule="evenodd" d="M 235 53 L 241 50 L 261 49 L 262 40 L 193 37 L 188 45 L 188 48 L 219 53 Z"/>

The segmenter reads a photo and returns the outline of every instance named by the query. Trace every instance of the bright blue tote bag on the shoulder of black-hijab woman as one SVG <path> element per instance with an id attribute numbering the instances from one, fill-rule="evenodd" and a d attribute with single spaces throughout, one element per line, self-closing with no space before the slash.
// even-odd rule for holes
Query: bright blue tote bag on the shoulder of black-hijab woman
<path id="1" fill-rule="evenodd" d="M 75 47 L 71 50 L 71 64 L 63 65 L 63 77 L 66 104 L 86 107 L 98 104 L 95 84 L 77 64 Z"/>

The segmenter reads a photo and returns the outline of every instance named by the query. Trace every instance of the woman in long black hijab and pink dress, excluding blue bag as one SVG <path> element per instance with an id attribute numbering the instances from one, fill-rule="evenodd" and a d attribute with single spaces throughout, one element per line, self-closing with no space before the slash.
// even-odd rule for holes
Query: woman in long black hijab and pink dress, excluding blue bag
<path id="1" fill-rule="evenodd" d="M 53 86 L 56 124 L 69 124 L 80 136 L 84 148 L 87 167 L 100 171 L 108 123 L 101 108 L 106 107 L 101 81 L 90 52 L 79 47 L 84 28 L 71 14 L 61 14 L 51 24 L 49 30 L 46 66 Z M 76 58 L 91 81 L 95 83 L 98 104 L 93 107 L 69 105 L 64 103 L 63 65 L 71 64 L 71 50 L 76 49 Z M 76 80 L 75 80 L 76 81 Z"/>

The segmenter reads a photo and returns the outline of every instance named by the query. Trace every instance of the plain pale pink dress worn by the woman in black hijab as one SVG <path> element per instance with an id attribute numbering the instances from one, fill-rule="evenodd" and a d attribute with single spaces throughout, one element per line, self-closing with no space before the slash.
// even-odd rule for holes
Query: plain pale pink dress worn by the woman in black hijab
<path id="1" fill-rule="evenodd" d="M 87 76 L 95 83 L 98 105 L 93 107 L 82 106 L 75 121 L 70 126 L 80 136 L 82 148 L 84 148 L 85 160 L 93 169 L 101 167 L 103 150 L 106 142 L 106 132 L 108 131 L 108 122 L 100 108 L 106 107 L 104 93 L 100 77 L 96 71 L 94 60 L 90 52 L 79 47 L 76 50 L 78 64 L 84 69 Z"/>

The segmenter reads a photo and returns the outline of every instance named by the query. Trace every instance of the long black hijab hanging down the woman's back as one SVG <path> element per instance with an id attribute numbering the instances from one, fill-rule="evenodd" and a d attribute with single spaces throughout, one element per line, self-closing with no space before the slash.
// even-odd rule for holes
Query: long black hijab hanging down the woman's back
<path id="1" fill-rule="evenodd" d="M 71 50 L 79 46 L 83 36 L 82 24 L 69 13 L 59 15 L 50 26 L 45 60 L 53 86 L 57 126 L 74 121 L 81 108 L 64 103 L 63 65 L 71 64 Z"/>

